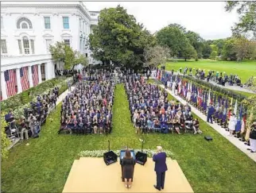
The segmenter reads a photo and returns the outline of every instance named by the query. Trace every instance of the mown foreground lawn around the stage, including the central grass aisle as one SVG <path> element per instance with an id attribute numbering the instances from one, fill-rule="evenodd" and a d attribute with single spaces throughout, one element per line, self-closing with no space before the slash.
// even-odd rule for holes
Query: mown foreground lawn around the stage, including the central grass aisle
<path id="1" fill-rule="evenodd" d="M 107 149 L 108 140 L 111 140 L 111 149 L 122 149 L 126 145 L 139 149 L 139 137 L 145 138 L 145 149 L 162 145 L 172 151 L 172 158 L 178 161 L 195 192 L 256 191 L 254 161 L 204 121 L 200 120 L 200 127 L 213 141 L 205 141 L 204 135 L 192 133 L 138 136 L 130 122 L 123 85 L 117 85 L 114 95 L 114 128 L 107 137 L 58 135 L 60 106 L 57 106 L 56 112 L 49 116 L 54 122 L 46 123 L 41 137 L 29 140 L 28 146 L 24 143 L 12 149 L 9 158 L 2 162 L 2 191 L 61 192 L 80 151 Z"/>

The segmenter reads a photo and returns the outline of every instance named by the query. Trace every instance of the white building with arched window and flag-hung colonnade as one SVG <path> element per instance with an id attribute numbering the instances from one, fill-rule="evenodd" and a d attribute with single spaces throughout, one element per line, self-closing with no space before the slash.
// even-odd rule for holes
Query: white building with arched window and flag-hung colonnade
<path id="1" fill-rule="evenodd" d="M 99 12 L 83 2 L 1 3 L 1 95 L 6 99 L 55 77 L 60 64 L 52 60 L 49 45 L 64 41 L 91 57 L 88 35 Z"/>

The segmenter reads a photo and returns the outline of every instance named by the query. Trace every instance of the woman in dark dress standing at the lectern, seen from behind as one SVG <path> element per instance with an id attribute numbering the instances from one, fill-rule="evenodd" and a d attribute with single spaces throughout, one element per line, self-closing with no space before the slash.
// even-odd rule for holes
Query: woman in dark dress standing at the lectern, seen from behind
<path id="1" fill-rule="evenodd" d="M 125 179 L 126 187 L 131 187 L 131 179 L 134 176 L 134 157 L 131 156 L 130 150 L 126 149 L 126 156 L 122 159 L 122 174 Z"/>

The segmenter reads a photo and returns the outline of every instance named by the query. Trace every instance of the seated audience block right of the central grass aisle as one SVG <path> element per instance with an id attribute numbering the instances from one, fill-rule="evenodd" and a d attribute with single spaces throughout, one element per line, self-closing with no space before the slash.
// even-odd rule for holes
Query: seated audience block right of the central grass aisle
<path id="1" fill-rule="evenodd" d="M 140 76 L 127 76 L 125 84 L 136 133 L 160 131 L 181 134 L 188 130 L 194 134 L 202 133 L 200 122 L 193 118 L 190 106 L 170 101 L 166 91 L 145 83 Z"/>

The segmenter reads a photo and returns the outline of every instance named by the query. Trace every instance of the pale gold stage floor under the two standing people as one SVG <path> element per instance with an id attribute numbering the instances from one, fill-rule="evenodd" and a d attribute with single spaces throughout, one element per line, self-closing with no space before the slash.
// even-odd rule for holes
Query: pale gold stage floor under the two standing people
<path id="1" fill-rule="evenodd" d="M 167 160 L 165 189 L 162 192 L 193 192 L 176 160 Z M 144 166 L 135 164 L 134 183 L 127 189 L 121 179 L 119 162 L 106 165 L 103 158 L 81 157 L 75 160 L 63 192 L 157 192 L 157 176 L 152 158 Z M 159 191 L 158 191 L 159 192 Z"/>

